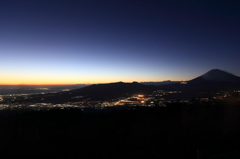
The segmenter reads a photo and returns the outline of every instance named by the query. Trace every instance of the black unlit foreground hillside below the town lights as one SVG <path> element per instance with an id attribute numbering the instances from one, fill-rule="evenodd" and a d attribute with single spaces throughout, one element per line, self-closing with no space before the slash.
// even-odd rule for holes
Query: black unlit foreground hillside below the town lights
<path id="1" fill-rule="evenodd" d="M 237 158 L 240 103 L 230 101 L 1 116 L 0 158 Z"/>

